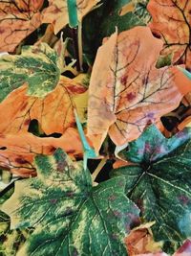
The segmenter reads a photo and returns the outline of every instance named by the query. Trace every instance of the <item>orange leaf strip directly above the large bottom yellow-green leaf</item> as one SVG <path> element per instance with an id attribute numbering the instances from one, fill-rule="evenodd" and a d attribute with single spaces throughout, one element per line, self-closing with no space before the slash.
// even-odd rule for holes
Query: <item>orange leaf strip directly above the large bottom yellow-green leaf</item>
<path id="1" fill-rule="evenodd" d="M 20 176 L 35 175 L 32 165 L 38 153 L 52 154 L 61 148 L 73 156 L 82 155 L 81 141 L 74 128 L 68 128 L 60 138 L 39 138 L 28 132 L 17 135 L 0 134 L 0 167 Z"/>

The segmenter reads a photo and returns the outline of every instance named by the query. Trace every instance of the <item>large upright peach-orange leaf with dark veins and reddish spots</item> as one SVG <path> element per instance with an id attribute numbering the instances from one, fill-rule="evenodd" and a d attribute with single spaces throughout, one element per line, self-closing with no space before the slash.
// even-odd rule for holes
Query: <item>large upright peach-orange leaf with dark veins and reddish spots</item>
<path id="1" fill-rule="evenodd" d="M 161 49 L 161 40 L 145 27 L 116 33 L 99 48 L 88 105 L 88 135 L 96 151 L 107 132 L 117 146 L 138 138 L 191 90 L 179 68 L 155 68 Z"/>

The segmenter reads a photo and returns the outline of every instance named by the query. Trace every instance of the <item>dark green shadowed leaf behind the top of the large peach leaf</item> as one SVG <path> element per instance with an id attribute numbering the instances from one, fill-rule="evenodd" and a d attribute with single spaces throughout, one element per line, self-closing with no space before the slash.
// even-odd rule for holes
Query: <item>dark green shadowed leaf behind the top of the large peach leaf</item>
<path id="1" fill-rule="evenodd" d="M 106 36 L 146 25 L 150 14 L 146 10 L 147 0 L 103 0 L 102 5 L 90 12 L 83 20 L 83 51 L 87 60 L 93 64 L 96 51 Z M 134 11 L 119 15 L 122 7 L 132 4 Z M 91 24 L 91 26 L 90 26 Z"/>

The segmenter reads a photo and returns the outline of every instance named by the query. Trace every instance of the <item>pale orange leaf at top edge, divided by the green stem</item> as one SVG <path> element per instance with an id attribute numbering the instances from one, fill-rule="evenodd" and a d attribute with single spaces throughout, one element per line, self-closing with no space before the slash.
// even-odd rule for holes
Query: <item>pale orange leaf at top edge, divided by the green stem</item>
<path id="1" fill-rule="evenodd" d="M 78 20 L 81 22 L 83 16 L 90 12 L 99 1 L 76 0 Z M 53 23 L 54 34 L 57 34 L 69 23 L 67 0 L 49 0 L 49 7 L 43 12 L 42 21 L 43 23 Z"/>

